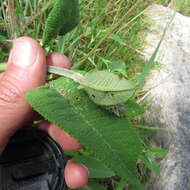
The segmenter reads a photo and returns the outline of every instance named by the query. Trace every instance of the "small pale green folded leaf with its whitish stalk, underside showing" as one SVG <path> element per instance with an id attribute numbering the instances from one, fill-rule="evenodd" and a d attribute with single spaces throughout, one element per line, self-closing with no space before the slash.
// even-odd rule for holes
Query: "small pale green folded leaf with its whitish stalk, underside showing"
<path id="1" fill-rule="evenodd" d="M 94 96 L 94 94 L 97 94 L 97 96 L 94 98 L 94 102 L 96 102 L 96 98 L 98 99 L 97 101 L 99 101 L 99 97 L 101 99 L 105 97 L 110 102 L 116 102 L 114 104 L 117 104 L 118 100 L 120 100 L 119 103 L 123 103 L 134 94 L 135 87 L 130 81 L 126 80 L 125 78 L 121 78 L 107 70 L 92 71 L 83 76 L 80 73 L 72 70 L 48 66 L 48 72 L 74 80 L 83 86 L 89 95 Z M 114 93 L 116 93 L 115 96 Z M 103 104 L 99 105 L 113 104 L 104 103 L 105 101 L 106 100 L 103 101 Z"/>

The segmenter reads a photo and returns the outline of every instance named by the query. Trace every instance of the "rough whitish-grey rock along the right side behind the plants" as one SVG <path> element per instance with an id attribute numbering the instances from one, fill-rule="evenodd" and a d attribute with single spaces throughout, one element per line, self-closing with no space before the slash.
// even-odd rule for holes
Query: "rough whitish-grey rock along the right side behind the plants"
<path id="1" fill-rule="evenodd" d="M 146 58 L 155 50 L 173 10 L 153 5 L 147 11 L 151 32 L 147 36 Z M 155 140 L 169 153 L 161 161 L 161 176 L 151 177 L 150 190 L 190 190 L 190 17 L 176 14 L 161 45 L 145 85 L 150 109 L 144 118 L 149 125 L 168 128 L 156 132 Z"/>

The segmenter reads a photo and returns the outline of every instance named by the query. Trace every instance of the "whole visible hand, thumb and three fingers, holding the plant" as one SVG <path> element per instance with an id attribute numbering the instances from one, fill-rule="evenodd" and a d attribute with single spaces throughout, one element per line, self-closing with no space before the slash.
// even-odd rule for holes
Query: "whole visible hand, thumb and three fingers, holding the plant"
<path id="1" fill-rule="evenodd" d="M 52 53 L 46 57 L 39 43 L 30 37 L 21 37 L 13 41 L 7 71 L 0 74 L 0 152 L 16 130 L 36 117 L 36 113 L 25 101 L 24 94 L 45 83 L 47 65 L 70 68 L 66 56 Z M 39 127 L 65 150 L 82 148 L 77 140 L 51 123 L 44 122 Z M 85 166 L 68 161 L 65 167 L 65 181 L 68 187 L 76 189 L 84 186 L 88 181 L 88 175 Z"/>

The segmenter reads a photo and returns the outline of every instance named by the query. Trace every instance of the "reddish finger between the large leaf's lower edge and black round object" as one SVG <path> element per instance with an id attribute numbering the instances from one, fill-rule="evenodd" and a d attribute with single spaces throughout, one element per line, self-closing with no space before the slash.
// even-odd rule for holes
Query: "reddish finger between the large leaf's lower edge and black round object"
<path id="1" fill-rule="evenodd" d="M 44 122 L 39 126 L 40 129 L 46 131 L 64 150 L 77 151 L 82 148 L 82 145 L 69 136 L 65 131 L 48 122 Z"/>

